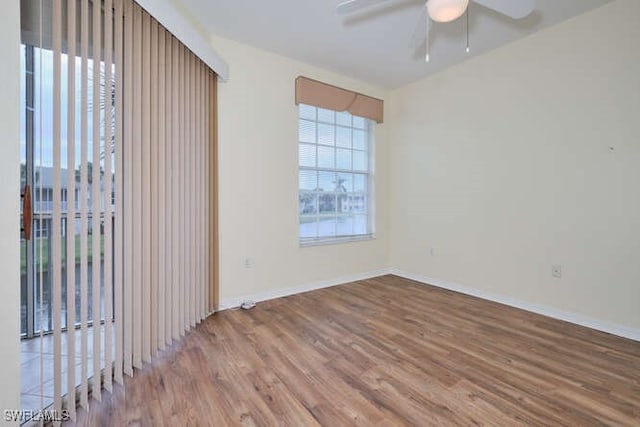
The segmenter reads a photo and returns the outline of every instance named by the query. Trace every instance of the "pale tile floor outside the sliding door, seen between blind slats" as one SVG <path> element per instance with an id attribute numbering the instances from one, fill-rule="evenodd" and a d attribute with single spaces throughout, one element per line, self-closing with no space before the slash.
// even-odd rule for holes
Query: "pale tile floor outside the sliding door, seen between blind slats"
<path id="1" fill-rule="evenodd" d="M 67 393 L 69 334 L 62 333 L 62 394 Z M 74 331 L 75 383 L 80 385 L 82 378 L 81 331 Z M 100 328 L 101 345 L 104 343 L 104 326 Z M 46 408 L 53 403 L 53 335 L 35 337 L 20 343 L 20 408 L 34 410 Z M 93 369 L 93 327 L 87 329 L 87 372 L 90 377 Z M 102 352 L 100 356 L 103 356 Z M 104 357 L 100 358 L 100 367 L 104 368 Z"/>

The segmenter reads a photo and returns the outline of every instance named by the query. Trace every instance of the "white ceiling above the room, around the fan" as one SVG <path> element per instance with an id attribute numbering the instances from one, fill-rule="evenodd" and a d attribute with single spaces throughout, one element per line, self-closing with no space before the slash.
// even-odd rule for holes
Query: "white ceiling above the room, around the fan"
<path id="1" fill-rule="evenodd" d="M 610 0 L 537 0 L 536 10 L 517 21 L 472 2 L 470 53 L 465 52 L 464 18 L 434 24 L 429 63 L 424 42 L 409 48 L 422 22 L 423 0 L 390 0 L 348 16 L 335 13 L 340 0 L 176 1 L 205 30 L 222 37 L 396 88 Z"/>

